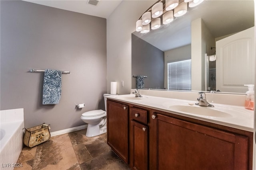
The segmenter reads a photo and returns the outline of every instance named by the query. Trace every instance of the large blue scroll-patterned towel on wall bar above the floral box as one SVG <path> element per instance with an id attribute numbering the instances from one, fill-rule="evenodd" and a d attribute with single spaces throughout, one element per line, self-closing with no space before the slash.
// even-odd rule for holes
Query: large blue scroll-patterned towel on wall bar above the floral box
<path id="1" fill-rule="evenodd" d="M 61 94 L 61 71 L 47 69 L 44 72 L 43 104 L 58 104 Z"/>

